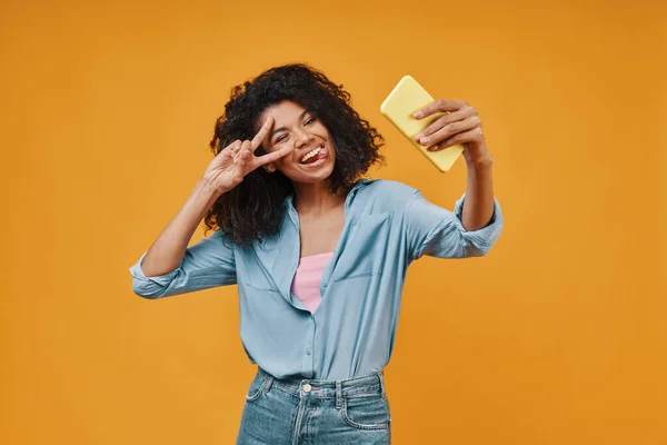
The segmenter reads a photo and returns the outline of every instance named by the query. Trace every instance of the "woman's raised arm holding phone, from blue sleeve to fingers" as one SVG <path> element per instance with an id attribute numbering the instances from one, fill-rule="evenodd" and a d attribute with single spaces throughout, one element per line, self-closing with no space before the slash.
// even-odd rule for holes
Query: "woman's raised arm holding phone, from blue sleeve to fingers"
<path id="1" fill-rule="evenodd" d="M 500 206 L 494 198 L 494 160 L 486 146 L 477 110 L 460 100 L 437 100 L 415 113 L 424 119 L 445 112 L 415 139 L 429 150 L 465 147 L 468 168 L 466 195 L 454 211 L 428 202 L 415 190 L 406 218 L 410 259 L 422 255 L 461 258 L 485 255 L 502 230 Z"/>

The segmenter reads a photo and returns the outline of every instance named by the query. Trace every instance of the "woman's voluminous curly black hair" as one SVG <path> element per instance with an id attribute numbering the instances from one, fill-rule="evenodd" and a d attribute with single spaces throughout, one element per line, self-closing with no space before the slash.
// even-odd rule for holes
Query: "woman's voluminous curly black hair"
<path id="1" fill-rule="evenodd" d="M 352 109 L 342 85 L 305 63 L 275 67 L 235 87 L 225 115 L 216 122 L 210 142 L 213 154 L 237 139 L 252 139 L 261 126 L 261 115 L 283 100 L 310 110 L 329 131 L 336 148 L 336 165 L 329 177 L 332 194 L 349 189 L 371 165 L 384 161 L 379 149 L 385 139 Z M 260 147 L 257 152 L 266 151 Z M 285 175 L 258 168 L 218 198 L 206 215 L 207 230 L 219 228 L 239 246 L 276 235 L 286 211 L 285 198 L 292 191 Z"/>

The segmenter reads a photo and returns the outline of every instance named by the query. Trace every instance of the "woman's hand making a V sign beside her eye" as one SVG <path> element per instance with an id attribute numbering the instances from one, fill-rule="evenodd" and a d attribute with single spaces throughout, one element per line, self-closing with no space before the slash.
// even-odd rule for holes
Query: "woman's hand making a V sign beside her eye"
<path id="1" fill-rule="evenodd" d="M 268 155 L 255 156 L 255 150 L 261 145 L 272 125 L 273 118 L 267 118 L 252 140 L 235 140 L 211 160 L 203 174 L 203 180 L 218 195 L 222 195 L 241 184 L 243 177 L 249 172 L 292 151 L 292 148 L 282 148 Z"/>

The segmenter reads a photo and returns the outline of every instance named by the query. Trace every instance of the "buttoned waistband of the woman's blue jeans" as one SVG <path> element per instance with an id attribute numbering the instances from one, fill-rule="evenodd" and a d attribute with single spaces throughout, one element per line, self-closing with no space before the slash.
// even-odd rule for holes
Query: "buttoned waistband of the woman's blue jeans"
<path id="1" fill-rule="evenodd" d="M 336 399 L 337 406 L 342 404 L 344 398 L 367 397 L 371 395 L 379 395 L 381 398 L 386 397 L 382 372 L 342 380 L 318 380 L 299 377 L 280 379 L 261 368 L 258 368 L 258 373 L 263 377 L 262 388 L 265 392 L 269 392 L 272 386 L 279 386 L 280 389 L 298 397 Z"/>

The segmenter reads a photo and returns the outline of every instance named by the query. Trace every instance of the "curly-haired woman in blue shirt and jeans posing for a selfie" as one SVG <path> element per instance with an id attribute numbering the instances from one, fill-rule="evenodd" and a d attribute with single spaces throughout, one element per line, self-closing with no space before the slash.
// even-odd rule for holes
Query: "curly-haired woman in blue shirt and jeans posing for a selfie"
<path id="1" fill-rule="evenodd" d="M 305 65 L 237 87 L 215 159 L 131 268 L 147 298 L 238 284 L 241 339 L 258 365 L 238 444 L 389 443 L 382 368 L 408 266 L 484 255 L 500 234 L 472 107 L 440 100 L 416 113 L 450 111 L 420 144 L 466 146 L 467 194 L 452 212 L 402 184 L 361 179 L 384 140 L 349 99 Z M 187 248 L 205 216 L 217 230 Z"/>

